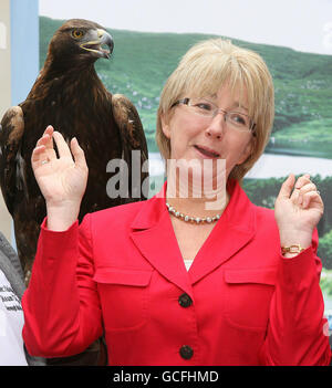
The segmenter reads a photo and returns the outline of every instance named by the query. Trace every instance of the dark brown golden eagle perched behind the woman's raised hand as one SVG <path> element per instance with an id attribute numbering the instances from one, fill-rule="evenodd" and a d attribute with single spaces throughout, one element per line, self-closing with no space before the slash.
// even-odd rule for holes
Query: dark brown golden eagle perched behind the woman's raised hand
<path id="1" fill-rule="evenodd" d="M 125 96 L 107 92 L 94 69 L 95 61 L 108 59 L 112 51 L 112 36 L 97 23 L 82 19 L 66 21 L 54 33 L 44 66 L 27 99 L 8 109 L 1 120 L 0 185 L 13 218 L 27 283 L 40 224 L 45 217 L 44 199 L 30 158 L 49 124 L 68 141 L 75 136 L 85 151 L 89 181 L 80 221 L 87 212 L 145 199 L 135 198 L 142 186 L 134 187 L 132 179 L 128 198 L 112 199 L 106 193 L 107 180 L 112 177 L 106 172 L 106 165 L 111 159 L 124 159 L 129 177 L 132 150 L 141 150 L 141 166 L 147 159 L 146 139 L 136 108 Z M 146 178 L 147 172 L 143 172 L 141 183 Z"/>

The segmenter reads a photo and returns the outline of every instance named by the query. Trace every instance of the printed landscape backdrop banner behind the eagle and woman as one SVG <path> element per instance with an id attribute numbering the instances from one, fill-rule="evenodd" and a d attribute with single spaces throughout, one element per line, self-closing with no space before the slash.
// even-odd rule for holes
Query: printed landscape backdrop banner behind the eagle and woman
<path id="1" fill-rule="evenodd" d="M 114 53 L 111 62 L 97 61 L 97 74 L 110 92 L 125 94 L 138 109 L 149 150 L 151 196 L 159 190 L 164 181 L 164 164 L 155 144 L 159 94 L 181 55 L 200 40 L 225 34 L 225 38 L 235 44 L 253 50 L 264 59 L 274 81 L 276 120 L 267 149 L 246 176 L 243 188 L 256 205 L 273 208 L 280 186 L 290 172 L 297 176 L 305 172 L 311 175 L 325 206 L 318 229 L 319 255 L 323 263 L 321 286 L 326 313 L 330 314 L 330 310 L 332 312 L 332 20 L 326 19 L 325 14 L 330 17 L 332 14 L 329 13 L 332 11 L 331 1 L 321 0 L 318 7 L 317 1 L 312 0 L 287 3 L 282 0 L 280 3 L 269 2 L 269 9 L 266 8 L 267 2 L 259 0 L 250 2 L 237 0 L 231 4 L 212 0 L 207 0 L 204 4 L 198 0 L 189 2 L 169 0 L 167 3 L 144 0 L 136 3 L 129 1 L 131 9 L 127 7 L 128 2 L 100 1 L 93 10 L 86 8 L 84 1 L 66 1 L 64 7 L 62 1 L 40 0 L 40 69 L 44 63 L 50 39 L 64 20 L 90 19 L 107 28 L 115 42 Z M 123 19 L 116 13 L 123 7 L 121 3 L 126 6 Z M 185 11 L 183 6 L 186 6 Z M 283 18 L 279 19 L 278 23 L 273 22 L 278 18 L 271 14 L 270 6 L 276 15 Z M 96 17 L 100 19 L 95 19 Z M 173 23 L 185 25 L 190 19 L 196 21 L 197 30 L 189 27 L 187 31 L 190 32 L 173 29 Z M 225 32 L 218 34 L 214 32 L 216 28 L 212 25 L 216 25 L 216 20 L 218 31 L 222 31 L 225 25 Z M 312 36 L 317 35 L 318 28 L 321 29 L 321 51 L 314 51 L 312 40 L 304 36 L 308 21 Z M 145 31 L 159 32 L 144 32 L 142 29 L 144 23 Z M 167 27 L 164 27 L 165 23 Z M 247 23 L 247 36 L 250 38 L 243 39 L 242 33 L 239 40 L 245 23 Z M 259 24 L 266 29 L 264 33 L 255 35 L 255 27 Z M 160 32 L 166 28 L 168 30 L 165 31 L 175 32 Z M 226 31 L 234 31 L 234 35 L 227 34 Z M 276 45 L 272 36 L 284 34 L 289 36 L 290 44 Z M 301 48 L 301 51 L 291 49 L 295 45 Z"/>

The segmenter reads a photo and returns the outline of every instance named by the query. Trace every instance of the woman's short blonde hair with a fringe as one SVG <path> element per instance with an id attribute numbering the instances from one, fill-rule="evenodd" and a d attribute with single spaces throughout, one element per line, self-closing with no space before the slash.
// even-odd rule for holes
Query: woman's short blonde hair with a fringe
<path id="1" fill-rule="evenodd" d="M 274 91 L 271 74 L 262 57 L 229 40 L 210 39 L 196 43 L 168 77 L 157 112 L 156 141 L 165 160 L 170 158 L 170 141 L 163 133 L 162 117 L 168 120 L 172 105 L 184 97 L 216 94 L 228 83 L 234 91 L 245 87 L 249 116 L 256 123 L 252 151 L 229 175 L 241 181 L 264 150 L 274 118 Z"/>

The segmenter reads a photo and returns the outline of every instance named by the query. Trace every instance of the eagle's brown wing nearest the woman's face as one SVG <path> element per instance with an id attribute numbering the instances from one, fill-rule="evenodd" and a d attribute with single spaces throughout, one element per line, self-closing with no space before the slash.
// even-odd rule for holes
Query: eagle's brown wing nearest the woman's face
<path id="1" fill-rule="evenodd" d="M 132 170 L 132 150 L 141 151 L 141 171 L 143 164 L 148 159 L 147 153 L 147 144 L 144 134 L 144 129 L 141 123 L 139 115 L 132 104 L 132 102 L 122 94 L 113 94 L 112 95 L 112 109 L 114 119 L 120 129 L 120 136 L 122 141 L 122 156 L 123 159 L 127 162 L 129 177 L 134 172 Z M 136 160 L 134 160 L 135 162 Z M 135 200 L 141 197 L 142 183 L 144 181 L 144 186 L 148 185 L 148 165 L 147 161 L 144 164 L 144 171 L 141 175 L 141 187 L 139 192 L 137 186 L 129 182 L 129 197 Z M 147 187 L 147 186 L 146 186 Z"/>

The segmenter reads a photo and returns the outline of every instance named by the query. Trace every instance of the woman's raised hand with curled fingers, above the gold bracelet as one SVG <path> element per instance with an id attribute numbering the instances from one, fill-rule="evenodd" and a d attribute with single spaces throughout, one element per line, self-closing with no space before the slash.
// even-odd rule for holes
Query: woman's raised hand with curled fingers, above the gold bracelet
<path id="1" fill-rule="evenodd" d="M 282 183 L 274 205 L 281 247 L 310 247 L 312 232 L 323 211 L 323 201 L 310 176 L 303 175 L 295 182 L 295 176 L 291 174 Z"/>

